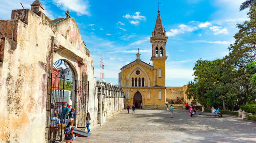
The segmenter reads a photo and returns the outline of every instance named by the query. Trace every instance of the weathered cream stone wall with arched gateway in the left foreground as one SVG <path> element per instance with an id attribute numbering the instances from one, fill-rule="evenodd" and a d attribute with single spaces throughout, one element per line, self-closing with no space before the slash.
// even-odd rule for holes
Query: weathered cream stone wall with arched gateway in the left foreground
<path id="1" fill-rule="evenodd" d="M 75 20 L 55 24 L 41 11 L 24 9 L 23 14 L 22 20 L 22 9 L 13 10 L 12 20 L 0 21 L 0 108 L 5 111 L 0 113 L 0 141 L 45 141 L 47 77 L 58 59 L 71 64 L 75 80 L 89 81 L 94 124 L 98 101 L 93 58 Z"/>

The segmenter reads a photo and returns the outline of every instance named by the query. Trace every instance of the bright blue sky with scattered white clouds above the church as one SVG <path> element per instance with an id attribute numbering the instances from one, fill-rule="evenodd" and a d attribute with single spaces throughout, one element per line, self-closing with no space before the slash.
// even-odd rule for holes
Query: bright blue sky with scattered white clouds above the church
<path id="1" fill-rule="evenodd" d="M 199 58 L 213 60 L 228 54 L 238 32 L 235 24 L 248 20 L 239 11 L 245 0 L 160 0 L 160 15 L 169 36 L 166 44 L 166 86 L 183 86 L 193 79 Z M 10 19 L 12 9 L 31 9 L 33 0 L 1 2 L 0 20 Z M 99 80 L 102 53 L 104 79 L 118 84 L 120 68 L 136 59 L 149 63 L 149 37 L 155 27 L 158 0 L 40 0 L 51 19 L 66 17 L 66 10 L 79 26 L 82 38 L 94 58 L 95 77 Z M 150 62 L 152 64 L 152 61 Z"/>

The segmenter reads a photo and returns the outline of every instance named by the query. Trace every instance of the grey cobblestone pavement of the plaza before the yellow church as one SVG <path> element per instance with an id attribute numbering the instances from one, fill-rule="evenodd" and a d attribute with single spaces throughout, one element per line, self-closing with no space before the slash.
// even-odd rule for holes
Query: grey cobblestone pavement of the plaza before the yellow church
<path id="1" fill-rule="evenodd" d="M 130 110 L 131 111 L 131 110 Z M 190 117 L 188 110 L 127 110 L 92 127 L 88 138 L 74 142 L 256 142 L 256 123 L 237 116 Z"/>

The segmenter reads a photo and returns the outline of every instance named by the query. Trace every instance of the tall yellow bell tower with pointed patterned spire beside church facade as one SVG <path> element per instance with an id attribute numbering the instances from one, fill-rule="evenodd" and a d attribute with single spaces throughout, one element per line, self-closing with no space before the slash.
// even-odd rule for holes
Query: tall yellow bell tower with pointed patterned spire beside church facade
<path id="1" fill-rule="evenodd" d="M 150 43 L 152 43 L 152 57 L 153 67 L 156 68 L 156 76 L 154 77 L 155 86 L 165 87 L 165 60 L 166 56 L 166 37 L 165 29 L 163 28 L 162 20 L 160 17 L 160 11 L 158 10 L 157 21 L 155 28 L 152 31 L 152 37 L 150 37 Z"/>

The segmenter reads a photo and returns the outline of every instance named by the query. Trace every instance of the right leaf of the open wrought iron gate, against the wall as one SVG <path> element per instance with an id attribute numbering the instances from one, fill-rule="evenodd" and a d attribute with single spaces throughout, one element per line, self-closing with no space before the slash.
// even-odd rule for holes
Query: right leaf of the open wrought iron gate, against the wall
<path id="1" fill-rule="evenodd" d="M 88 112 L 89 81 L 75 81 L 75 116 L 76 128 L 85 128 L 86 113 Z"/>

